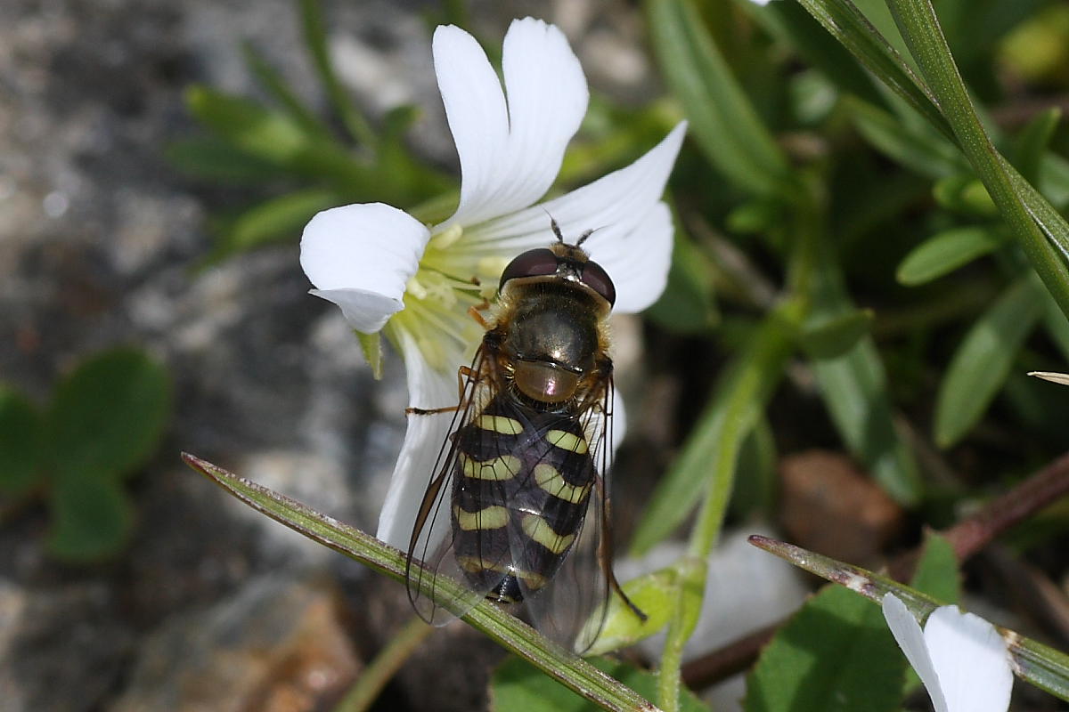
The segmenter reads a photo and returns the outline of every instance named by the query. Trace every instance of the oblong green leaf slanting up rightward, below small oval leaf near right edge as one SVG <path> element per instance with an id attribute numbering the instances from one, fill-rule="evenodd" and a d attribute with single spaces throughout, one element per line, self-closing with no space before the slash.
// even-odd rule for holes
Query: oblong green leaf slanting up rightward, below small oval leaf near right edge
<path id="1" fill-rule="evenodd" d="M 1033 278 L 1021 278 L 969 330 L 935 400 L 934 438 L 940 447 L 961 440 L 991 405 L 1021 344 L 1042 315 L 1040 290 Z"/>

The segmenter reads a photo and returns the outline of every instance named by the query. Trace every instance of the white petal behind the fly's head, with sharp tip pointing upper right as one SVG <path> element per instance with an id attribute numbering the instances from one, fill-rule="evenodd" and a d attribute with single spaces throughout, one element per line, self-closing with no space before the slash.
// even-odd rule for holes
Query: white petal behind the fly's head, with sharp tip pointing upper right
<path id="1" fill-rule="evenodd" d="M 613 278 L 617 311 L 646 308 L 661 295 L 668 275 L 672 228 L 661 195 L 685 132 L 683 122 L 631 165 L 469 231 L 465 247 L 474 253 L 511 256 L 548 244 L 555 239 L 548 216 L 560 224 L 566 239 L 594 228 L 584 247 Z"/>

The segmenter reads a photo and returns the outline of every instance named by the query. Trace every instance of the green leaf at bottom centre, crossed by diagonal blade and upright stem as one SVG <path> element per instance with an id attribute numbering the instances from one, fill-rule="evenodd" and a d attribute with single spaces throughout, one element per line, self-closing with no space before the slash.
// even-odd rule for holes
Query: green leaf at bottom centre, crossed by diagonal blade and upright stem
<path id="1" fill-rule="evenodd" d="M 616 678 L 648 699 L 656 695 L 656 678 L 628 663 L 597 658 L 594 667 Z M 601 709 L 555 682 L 528 663 L 509 658 L 501 663 L 490 679 L 491 710 L 529 710 L 539 712 L 586 712 Z M 685 691 L 680 698 L 682 712 L 708 710 L 694 693 Z"/>

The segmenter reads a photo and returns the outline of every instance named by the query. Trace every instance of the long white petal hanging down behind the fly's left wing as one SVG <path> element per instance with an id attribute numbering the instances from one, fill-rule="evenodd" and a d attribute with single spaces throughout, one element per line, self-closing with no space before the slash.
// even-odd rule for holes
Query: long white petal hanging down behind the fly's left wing
<path id="1" fill-rule="evenodd" d="M 408 377 L 408 405 L 416 408 L 455 406 L 455 373 L 444 374 L 432 368 L 423 359 L 416 339 L 406 331 L 399 331 L 399 338 Z M 434 464 L 451 422 L 451 413 L 408 416 L 404 444 L 378 516 L 375 536 L 386 543 L 407 550 L 416 512 L 423 500 L 423 491 L 435 474 Z M 443 522 L 448 524 L 449 518 L 444 518 Z M 438 536 L 444 534 L 441 532 Z"/>

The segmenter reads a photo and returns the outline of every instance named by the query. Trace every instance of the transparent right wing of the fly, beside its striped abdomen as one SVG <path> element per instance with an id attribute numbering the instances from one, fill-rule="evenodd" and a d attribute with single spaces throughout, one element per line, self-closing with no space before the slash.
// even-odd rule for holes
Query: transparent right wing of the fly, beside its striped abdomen
<path id="1" fill-rule="evenodd" d="M 583 652 L 593 643 L 604 623 L 611 581 L 611 525 L 608 509 L 608 474 L 611 464 L 613 382 L 607 377 L 600 393 L 580 408 L 575 421 L 588 444 L 592 465 L 585 511 L 575 531 L 575 539 L 553 580 L 541 589 L 526 587 L 524 600 L 534 627 L 546 637 Z M 574 490 L 559 486 L 555 501 L 575 499 Z M 553 520 L 552 513 L 546 515 Z M 558 518 L 559 519 L 559 518 Z M 516 548 L 532 547 L 527 532 L 513 537 Z M 567 535 L 566 535 L 567 537 Z M 553 537 L 551 545 L 560 547 L 566 537 Z M 529 554 L 517 553 L 516 560 Z M 525 588 L 523 585 L 521 588 Z M 591 616 L 600 616 L 592 620 Z"/>

